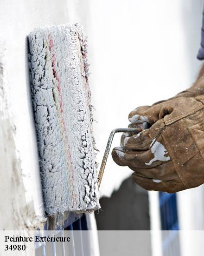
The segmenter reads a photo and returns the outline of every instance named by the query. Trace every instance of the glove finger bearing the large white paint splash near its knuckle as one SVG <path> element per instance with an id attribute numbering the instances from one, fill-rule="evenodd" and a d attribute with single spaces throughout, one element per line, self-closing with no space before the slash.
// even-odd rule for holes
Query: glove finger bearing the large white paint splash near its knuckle
<path id="1" fill-rule="evenodd" d="M 113 160 L 121 166 L 130 168 L 152 168 L 170 161 L 166 148 L 158 141 L 146 151 L 123 150 L 116 147 L 112 151 Z"/>

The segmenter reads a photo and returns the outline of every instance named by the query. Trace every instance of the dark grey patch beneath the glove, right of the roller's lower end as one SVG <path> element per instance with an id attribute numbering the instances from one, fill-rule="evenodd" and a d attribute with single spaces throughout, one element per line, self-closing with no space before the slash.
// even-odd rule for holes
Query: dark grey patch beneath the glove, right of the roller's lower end
<path id="1" fill-rule="evenodd" d="M 98 230 L 149 230 L 148 192 L 131 177 L 110 198 L 100 200 L 102 211 L 95 212 Z"/>

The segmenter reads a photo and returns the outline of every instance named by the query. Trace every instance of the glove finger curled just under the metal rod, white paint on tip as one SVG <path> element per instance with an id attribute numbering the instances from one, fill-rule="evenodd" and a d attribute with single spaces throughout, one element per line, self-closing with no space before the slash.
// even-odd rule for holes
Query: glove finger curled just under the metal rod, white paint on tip
<path id="1" fill-rule="evenodd" d="M 160 119 L 152 127 L 138 134 L 124 133 L 121 136 L 121 147 L 128 150 L 148 150 L 154 138 L 159 136 L 164 127 L 164 120 Z"/>

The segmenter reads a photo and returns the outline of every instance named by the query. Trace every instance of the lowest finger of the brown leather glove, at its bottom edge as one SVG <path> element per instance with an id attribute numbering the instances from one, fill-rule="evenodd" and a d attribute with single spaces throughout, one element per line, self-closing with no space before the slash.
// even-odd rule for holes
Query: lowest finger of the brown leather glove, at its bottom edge
<path id="1" fill-rule="evenodd" d="M 147 190 L 155 190 L 155 191 L 163 191 L 167 193 L 175 193 L 181 190 L 186 189 L 184 184 L 179 180 L 171 180 L 167 182 L 155 182 L 153 179 L 148 179 L 145 177 L 141 177 L 134 173 L 132 175 L 133 180 L 137 183 L 140 187 Z"/>

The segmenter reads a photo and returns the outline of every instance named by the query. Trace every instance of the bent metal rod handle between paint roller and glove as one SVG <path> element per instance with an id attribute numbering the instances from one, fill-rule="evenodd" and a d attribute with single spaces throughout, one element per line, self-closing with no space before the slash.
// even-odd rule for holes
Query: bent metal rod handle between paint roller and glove
<path id="1" fill-rule="evenodd" d="M 100 185 L 101 185 L 102 176 L 103 176 L 104 169 L 105 169 L 105 166 L 106 166 L 106 162 L 107 162 L 107 159 L 108 159 L 108 154 L 109 154 L 110 147 L 111 147 L 111 144 L 112 144 L 112 141 L 113 141 L 113 137 L 116 133 L 125 133 L 125 132 L 138 133 L 139 129 L 138 128 L 117 128 L 117 129 L 112 130 L 112 132 L 110 133 L 109 138 L 108 138 L 108 143 L 107 143 L 104 155 L 103 155 L 100 171 L 99 171 L 99 174 L 98 174 L 98 189 L 100 188 Z"/>

